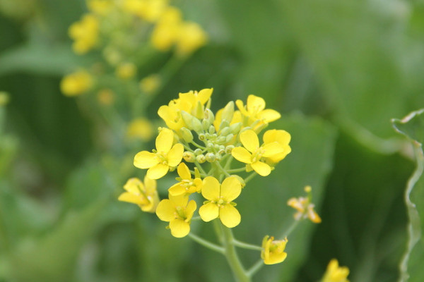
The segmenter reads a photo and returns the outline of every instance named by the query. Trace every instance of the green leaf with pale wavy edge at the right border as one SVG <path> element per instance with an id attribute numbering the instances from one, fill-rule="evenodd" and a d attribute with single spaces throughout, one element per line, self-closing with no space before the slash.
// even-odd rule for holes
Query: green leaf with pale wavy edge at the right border
<path id="1" fill-rule="evenodd" d="M 416 170 L 409 178 L 405 191 L 405 202 L 408 209 L 408 243 L 401 260 L 401 277 L 399 281 L 422 281 L 424 270 L 424 109 L 413 111 L 405 118 L 392 120 L 394 129 L 408 137 L 413 146 L 416 158 Z"/>

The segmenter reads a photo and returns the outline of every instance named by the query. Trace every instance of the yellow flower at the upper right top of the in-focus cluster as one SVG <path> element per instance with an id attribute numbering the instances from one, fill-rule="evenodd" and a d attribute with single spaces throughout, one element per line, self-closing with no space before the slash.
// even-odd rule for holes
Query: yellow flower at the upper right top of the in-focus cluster
<path id="1" fill-rule="evenodd" d="M 281 114 L 278 111 L 272 109 L 265 109 L 265 100 L 261 97 L 250 94 L 247 97 L 246 106 L 242 100 L 235 102 L 242 116 L 245 117 L 244 125 L 252 126 L 252 129 L 259 132 L 261 128 L 271 121 L 276 121 L 281 118 Z"/>

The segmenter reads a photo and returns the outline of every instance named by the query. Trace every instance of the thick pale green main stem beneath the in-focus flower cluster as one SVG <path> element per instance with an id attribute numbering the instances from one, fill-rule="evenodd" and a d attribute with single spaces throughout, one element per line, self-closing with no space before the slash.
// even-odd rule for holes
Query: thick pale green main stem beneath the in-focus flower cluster
<path id="1" fill-rule="evenodd" d="M 232 235 L 231 228 L 223 226 L 221 224 L 221 230 L 223 234 L 223 245 L 225 248 L 225 257 L 227 258 L 228 264 L 232 270 L 232 274 L 235 276 L 237 282 L 250 282 L 250 277 L 247 275 L 245 268 L 240 262 L 240 259 L 235 250 L 234 237 Z"/>

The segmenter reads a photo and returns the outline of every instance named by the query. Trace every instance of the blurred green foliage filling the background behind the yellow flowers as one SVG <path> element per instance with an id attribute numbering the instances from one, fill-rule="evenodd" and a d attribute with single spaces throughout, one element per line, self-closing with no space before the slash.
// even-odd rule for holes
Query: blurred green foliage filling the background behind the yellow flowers
<path id="1" fill-rule="evenodd" d="M 206 87 L 214 88 L 215 110 L 264 97 L 283 115 L 269 128 L 287 130 L 293 151 L 271 176 L 249 183 L 235 235 L 260 244 L 279 233 L 293 216 L 288 198 L 305 185 L 323 219 L 303 223 L 285 262 L 263 267 L 254 281 L 317 281 L 334 257 L 351 281 L 397 281 L 414 163 L 390 119 L 424 105 L 423 1 L 172 4 L 209 42 L 148 116 L 157 120 L 158 106 L 178 92 Z M 10 99 L 0 121 L 0 281 L 232 281 L 223 257 L 172 238 L 154 214 L 116 200 L 127 178 L 143 176 L 132 156 L 153 142 L 131 151 L 119 145 L 122 133 L 99 135 L 87 105 L 59 90 L 84 63 L 67 35 L 84 1 L 0 0 L 0 11 L 0 91 Z M 163 197 L 172 179 L 158 181 Z M 211 226 L 192 228 L 213 240 Z M 258 258 L 242 254 L 247 264 Z M 410 281 L 420 281 L 414 271 Z"/>

